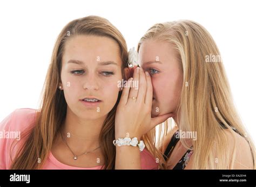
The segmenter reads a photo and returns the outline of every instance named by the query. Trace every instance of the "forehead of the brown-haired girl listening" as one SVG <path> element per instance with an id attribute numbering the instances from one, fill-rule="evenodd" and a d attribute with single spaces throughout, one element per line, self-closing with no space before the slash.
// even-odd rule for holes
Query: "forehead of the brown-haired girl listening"
<path id="1" fill-rule="evenodd" d="M 120 49 L 116 41 L 95 35 L 77 35 L 66 41 L 63 59 L 88 61 L 120 61 Z"/>

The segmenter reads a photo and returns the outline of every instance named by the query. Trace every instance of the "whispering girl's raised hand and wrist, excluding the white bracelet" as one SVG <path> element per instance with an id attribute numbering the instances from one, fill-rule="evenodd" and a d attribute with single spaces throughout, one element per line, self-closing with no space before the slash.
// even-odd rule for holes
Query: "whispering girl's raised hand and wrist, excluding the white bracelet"
<path id="1" fill-rule="evenodd" d="M 126 78 L 130 75 L 128 82 L 138 87 L 123 89 L 116 111 L 115 138 L 136 137 L 140 142 L 144 134 L 174 115 L 168 113 L 151 118 L 153 88 L 150 74 L 144 73 L 142 68 L 133 67 L 125 69 L 125 75 Z M 140 159 L 138 147 L 116 146 L 116 169 L 141 169 Z"/>

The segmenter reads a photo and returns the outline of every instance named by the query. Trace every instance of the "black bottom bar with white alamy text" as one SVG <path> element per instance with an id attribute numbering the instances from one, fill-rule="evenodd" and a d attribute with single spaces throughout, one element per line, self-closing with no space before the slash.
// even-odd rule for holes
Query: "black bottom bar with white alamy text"
<path id="1" fill-rule="evenodd" d="M 256 185 L 255 170 L 0 170 L 0 186 Z"/>

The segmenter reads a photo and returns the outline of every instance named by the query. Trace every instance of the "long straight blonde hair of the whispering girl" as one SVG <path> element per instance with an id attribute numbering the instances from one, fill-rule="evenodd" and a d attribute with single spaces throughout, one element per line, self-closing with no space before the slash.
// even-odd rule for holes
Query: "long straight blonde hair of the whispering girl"
<path id="1" fill-rule="evenodd" d="M 235 158 L 228 157 L 225 128 L 233 136 L 232 128 L 235 128 L 248 141 L 255 168 L 253 141 L 235 110 L 220 53 L 210 33 L 194 21 L 179 20 L 153 25 L 140 39 L 138 51 L 148 39 L 169 42 L 179 54 L 183 87 L 176 113 L 179 114 L 179 130 L 197 132 L 197 141 L 193 141 L 193 168 L 232 169 Z M 209 55 L 215 55 L 219 61 L 206 62 Z M 167 125 L 164 128 L 166 135 Z M 181 143 L 190 148 L 183 139 Z M 214 158 L 218 158 L 218 164 Z"/>

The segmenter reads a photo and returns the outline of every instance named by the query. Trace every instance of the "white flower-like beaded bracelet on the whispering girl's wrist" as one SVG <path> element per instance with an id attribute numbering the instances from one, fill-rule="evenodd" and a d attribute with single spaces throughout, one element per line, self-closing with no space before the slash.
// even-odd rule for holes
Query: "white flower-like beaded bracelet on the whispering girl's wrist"
<path id="1" fill-rule="evenodd" d="M 138 139 L 136 137 L 134 138 L 129 138 L 129 137 L 125 137 L 125 138 L 118 138 L 117 140 L 113 141 L 113 145 L 114 146 L 134 146 L 136 147 L 138 145 L 140 152 L 143 151 L 143 149 L 145 148 L 145 144 L 143 142 L 143 140 L 138 141 Z"/>

